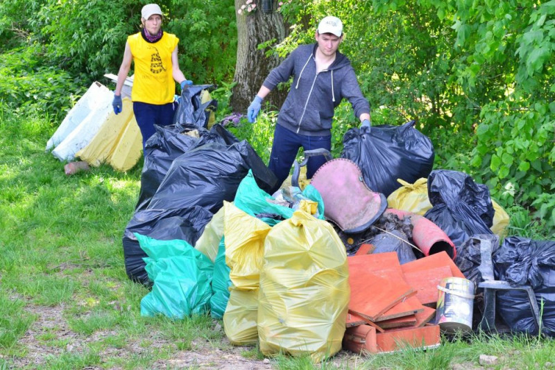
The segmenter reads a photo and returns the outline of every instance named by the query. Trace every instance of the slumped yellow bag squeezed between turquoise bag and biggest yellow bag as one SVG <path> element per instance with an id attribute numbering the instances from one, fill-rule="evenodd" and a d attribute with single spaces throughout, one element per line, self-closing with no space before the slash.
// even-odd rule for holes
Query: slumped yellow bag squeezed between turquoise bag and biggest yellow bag
<path id="1" fill-rule="evenodd" d="M 230 267 L 230 299 L 223 313 L 223 330 L 232 344 L 258 340 L 257 308 L 264 240 L 271 227 L 224 202 L 225 263 Z"/>

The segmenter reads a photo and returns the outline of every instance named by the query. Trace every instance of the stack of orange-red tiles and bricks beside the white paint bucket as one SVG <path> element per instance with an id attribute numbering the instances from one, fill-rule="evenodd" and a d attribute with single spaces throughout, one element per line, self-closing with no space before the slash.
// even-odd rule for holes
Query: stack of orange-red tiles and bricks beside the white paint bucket
<path id="1" fill-rule="evenodd" d="M 445 252 L 400 265 L 395 252 L 348 257 L 351 298 L 343 347 L 356 353 L 388 353 L 439 346 L 437 285 L 464 278 Z"/>

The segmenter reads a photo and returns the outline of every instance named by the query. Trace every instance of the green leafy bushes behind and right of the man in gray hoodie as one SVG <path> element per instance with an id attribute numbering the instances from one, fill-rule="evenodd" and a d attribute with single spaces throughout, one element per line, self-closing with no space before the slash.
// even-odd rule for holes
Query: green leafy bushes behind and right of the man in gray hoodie
<path id="1" fill-rule="evenodd" d="M 347 55 L 373 124 L 416 120 L 436 168 L 488 184 L 503 206 L 533 207 L 555 231 L 555 2 L 292 1 L 294 32 L 311 42 L 324 15 L 343 20 Z M 336 117 L 338 136 L 346 117 Z"/>

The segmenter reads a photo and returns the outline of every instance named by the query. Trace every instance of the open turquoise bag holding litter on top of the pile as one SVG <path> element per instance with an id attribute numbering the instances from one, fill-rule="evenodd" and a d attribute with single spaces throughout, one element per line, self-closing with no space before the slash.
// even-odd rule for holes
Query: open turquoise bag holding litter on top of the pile
<path id="1" fill-rule="evenodd" d="M 297 197 L 299 199 L 302 198 L 304 200 L 316 202 L 318 218 L 323 220 L 324 201 L 314 186 L 308 185 L 302 193 L 297 194 Z M 285 203 L 287 203 L 287 205 L 285 205 Z M 243 181 L 241 181 L 241 184 L 239 184 L 234 200 L 234 204 L 237 208 L 249 215 L 260 218 L 270 226 L 282 220 L 286 220 L 287 218 L 291 218 L 293 215 L 295 210 L 289 207 L 289 202 L 285 203 L 276 201 L 274 197 L 259 188 L 253 177 L 253 173 L 250 171 Z M 305 202 L 303 207 L 305 207 L 304 210 L 308 213 L 314 210 L 314 207 L 309 202 Z"/>

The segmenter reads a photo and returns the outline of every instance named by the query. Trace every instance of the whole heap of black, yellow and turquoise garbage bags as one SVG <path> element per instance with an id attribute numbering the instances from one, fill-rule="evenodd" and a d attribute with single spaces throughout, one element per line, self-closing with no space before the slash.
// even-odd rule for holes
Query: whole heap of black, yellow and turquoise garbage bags
<path id="1" fill-rule="evenodd" d="M 529 284 L 553 311 L 555 258 L 539 258 L 553 243 L 511 237 L 499 245 L 509 216 L 469 175 L 432 170 L 434 148 L 413 121 L 345 134 L 341 157 L 355 162 L 366 186 L 386 195 L 393 209 L 349 236 L 326 220 L 314 186 L 269 194 L 277 185 L 273 173 L 248 142 L 217 123 L 209 130 L 206 107 L 194 97 L 182 96 L 191 103 L 148 139 L 139 200 L 123 235 L 128 276 L 152 286 L 142 315 L 210 312 L 223 319 L 232 344 L 258 342 L 265 355 L 323 360 L 341 349 L 350 298 L 347 256 L 360 246 L 346 244 L 353 237 L 370 240 L 374 253 L 397 252 L 401 263 L 445 250 L 475 285 L 487 279 Z M 422 228 L 416 220 L 441 229 L 441 243 L 417 251 L 422 235 L 415 233 Z M 493 246 L 489 265 L 477 238 Z M 500 316 L 513 331 L 538 333 L 515 309 L 520 298 L 499 294 Z M 555 330 L 551 316 L 543 317 L 543 333 Z"/>

